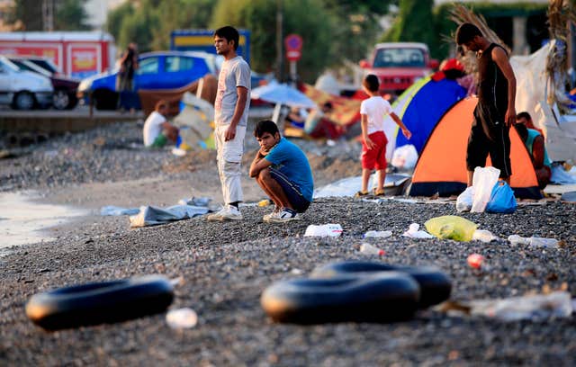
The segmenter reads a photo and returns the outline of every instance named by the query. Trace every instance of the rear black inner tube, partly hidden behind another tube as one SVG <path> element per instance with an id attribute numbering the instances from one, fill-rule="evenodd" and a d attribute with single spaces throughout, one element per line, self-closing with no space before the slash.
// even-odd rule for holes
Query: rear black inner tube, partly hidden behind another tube
<path id="1" fill-rule="evenodd" d="M 368 261 L 346 261 L 316 268 L 311 278 L 329 278 L 350 273 L 402 272 L 412 276 L 420 286 L 419 309 L 442 303 L 450 298 L 452 281 L 437 267 L 404 266 Z"/>

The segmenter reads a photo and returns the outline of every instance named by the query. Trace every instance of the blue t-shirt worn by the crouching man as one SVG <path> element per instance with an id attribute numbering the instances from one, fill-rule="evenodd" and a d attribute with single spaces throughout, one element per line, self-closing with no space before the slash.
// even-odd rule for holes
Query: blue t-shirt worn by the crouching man
<path id="1" fill-rule="evenodd" d="M 308 158 L 301 148 L 281 138 L 278 144 L 266 155 L 265 159 L 298 186 L 302 196 L 307 201 L 312 201 L 312 192 L 314 192 L 312 170 L 308 163 Z"/>

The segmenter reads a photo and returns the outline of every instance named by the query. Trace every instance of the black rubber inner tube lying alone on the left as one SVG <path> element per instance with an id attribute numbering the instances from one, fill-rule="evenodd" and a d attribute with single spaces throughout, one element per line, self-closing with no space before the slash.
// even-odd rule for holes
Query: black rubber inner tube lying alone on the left
<path id="1" fill-rule="evenodd" d="M 48 330 L 113 323 L 164 311 L 174 288 L 164 276 L 93 282 L 35 294 L 26 315 Z"/>

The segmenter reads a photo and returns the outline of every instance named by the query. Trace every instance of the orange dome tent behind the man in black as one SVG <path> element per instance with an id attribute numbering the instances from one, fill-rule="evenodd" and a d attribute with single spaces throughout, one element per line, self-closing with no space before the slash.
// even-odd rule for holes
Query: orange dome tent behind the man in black
<path id="1" fill-rule="evenodd" d="M 478 99 L 465 98 L 455 103 L 438 121 L 422 149 L 414 169 L 410 196 L 448 196 L 466 188 L 466 146 Z M 527 148 L 515 129 L 510 129 L 510 186 L 519 198 L 540 199 L 536 173 Z M 490 157 L 486 164 L 491 166 Z"/>

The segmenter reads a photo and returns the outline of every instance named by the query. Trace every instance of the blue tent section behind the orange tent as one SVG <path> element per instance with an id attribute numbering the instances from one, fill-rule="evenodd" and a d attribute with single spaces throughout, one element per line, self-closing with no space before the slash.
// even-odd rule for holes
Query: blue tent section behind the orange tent
<path id="1" fill-rule="evenodd" d="M 429 79 L 416 93 L 413 93 L 411 101 L 404 107 L 404 112 L 399 114 L 412 132 L 412 138 L 408 140 L 403 134 L 398 133 L 396 148 L 412 144 L 420 154 L 437 122 L 450 107 L 465 96 L 466 90 L 455 80 L 445 78 L 436 82 Z"/>

